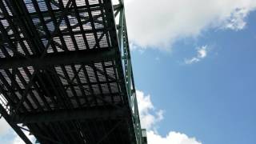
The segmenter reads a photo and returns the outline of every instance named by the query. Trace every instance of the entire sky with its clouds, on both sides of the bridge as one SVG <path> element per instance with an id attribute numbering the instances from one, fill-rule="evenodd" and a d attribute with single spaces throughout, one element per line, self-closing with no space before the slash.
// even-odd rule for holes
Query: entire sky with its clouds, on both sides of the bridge
<path id="1" fill-rule="evenodd" d="M 256 2 L 125 2 L 149 144 L 256 143 Z M 0 143 L 22 143 L 0 126 Z"/>

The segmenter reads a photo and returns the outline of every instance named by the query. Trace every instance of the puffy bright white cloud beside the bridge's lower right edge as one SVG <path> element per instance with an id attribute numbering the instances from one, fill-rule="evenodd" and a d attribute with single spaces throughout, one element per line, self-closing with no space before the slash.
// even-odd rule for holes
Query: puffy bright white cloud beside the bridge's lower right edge
<path id="1" fill-rule="evenodd" d="M 137 90 L 136 94 L 142 128 L 147 130 L 148 144 L 202 144 L 195 138 L 175 131 L 170 131 L 165 137 L 158 134 L 157 123 L 163 119 L 163 110 L 154 107 L 149 94 L 146 95 L 140 90 Z"/>

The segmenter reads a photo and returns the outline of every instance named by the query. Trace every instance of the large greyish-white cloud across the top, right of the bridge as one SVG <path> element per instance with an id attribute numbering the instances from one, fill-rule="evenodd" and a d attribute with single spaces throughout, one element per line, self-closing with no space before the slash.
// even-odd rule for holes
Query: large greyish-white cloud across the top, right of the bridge
<path id="1" fill-rule="evenodd" d="M 130 42 L 170 50 L 182 38 L 197 38 L 209 28 L 242 30 L 255 0 L 129 0 L 126 23 Z"/>

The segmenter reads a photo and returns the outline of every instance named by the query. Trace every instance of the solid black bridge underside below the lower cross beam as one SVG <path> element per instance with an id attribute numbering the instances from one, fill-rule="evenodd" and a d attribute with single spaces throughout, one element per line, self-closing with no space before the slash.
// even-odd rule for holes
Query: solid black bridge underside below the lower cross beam
<path id="1" fill-rule="evenodd" d="M 30 124 L 30 130 L 51 138 L 38 137 L 41 143 L 124 143 L 129 144 L 129 131 L 126 123 L 118 124 L 118 120 L 90 120 L 72 122 L 50 122 Z M 111 131 L 114 127 L 116 128 Z M 81 130 L 78 130 L 81 129 Z M 104 137 L 106 134 L 106 138 Z M 36 134 L 35 134 L 36 135 Z M 55 142 L 54 142 L 55 141 Z"/>

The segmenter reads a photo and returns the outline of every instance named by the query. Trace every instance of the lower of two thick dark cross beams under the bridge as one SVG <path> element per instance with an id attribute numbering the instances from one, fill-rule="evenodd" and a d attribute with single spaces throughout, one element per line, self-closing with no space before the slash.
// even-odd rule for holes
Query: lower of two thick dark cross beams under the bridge
<path id="1" fill-rule="evenodd" d="M 88 119 L 124 119 L 127 117 L 128 110 L 125 107 L 116 109 L 111 107 L 95 107 L 78 110 L 58 110 L 42 112 L 36 114 L 16 114 L 15 123 L 40 123 L 40 122 L 63 122 L 72 120 Z"/>

